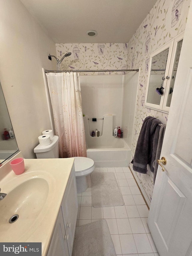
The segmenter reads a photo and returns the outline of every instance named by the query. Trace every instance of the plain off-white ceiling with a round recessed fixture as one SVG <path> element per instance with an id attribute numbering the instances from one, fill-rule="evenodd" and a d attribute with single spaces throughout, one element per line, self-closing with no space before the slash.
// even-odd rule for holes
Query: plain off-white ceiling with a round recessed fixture
<path id="1" fill-rule="evenodd" d="M 20 0 L 55 43 L 125 43 L 157 0 Z M 88 30 L 96 30 L 90 37 Z"/>

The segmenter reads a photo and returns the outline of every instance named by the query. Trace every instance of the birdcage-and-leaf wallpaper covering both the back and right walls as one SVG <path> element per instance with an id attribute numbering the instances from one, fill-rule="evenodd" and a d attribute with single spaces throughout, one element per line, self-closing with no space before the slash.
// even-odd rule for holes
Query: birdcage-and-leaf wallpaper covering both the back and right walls
<path id="1" fill-rule="evenodd" d="M 149 75 L 149 58 L 153 51 L 184 31 L 189 5 L 190 0 L 158 0 L 128 43 L 56 44 L 58 59 L 61 59 L 67 52 L 72 53 L 61 63 L 61 70 L 140 68 L 131 160 L 134 157 L 144 119 L 147 116 L 154 116 L 160 119 L 162 123 L 167 123 L 168 114 L 144 106 L 146 83 Z M 81 75 L 114 75 L 120 73 L 125 74 L 125 72 L 87 72 L 81 73 Z M 136 175 L 151 201 L 153 173 L 148 170 L 147 174 L 136 172 Z"/>

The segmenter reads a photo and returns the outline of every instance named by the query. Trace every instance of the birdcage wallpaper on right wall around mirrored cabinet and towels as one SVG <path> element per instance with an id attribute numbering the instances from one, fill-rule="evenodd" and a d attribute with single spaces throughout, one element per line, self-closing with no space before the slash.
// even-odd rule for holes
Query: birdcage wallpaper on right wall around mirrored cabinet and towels
<path id="1" fill-rule="evenodd" d="M 144 105 L 146 83 L 149 75 L 149 57 L 153 51 L 184 31 L 189 5 L 190 0 L 158 0 L 128 43 L 128 69 L 132 67 L 133 54 L 135 54 L 133 68 L 140 67 L 134 134 L 131 145 L 131 160 L 134 157 L 137 140 L 144 119 L 147 116 L 154 116 L 160 119 L 162 123 L 167 123 L 168 114 L 146 108 Z M 177 8 L 179 11 L 178 20 L 177 23 L 174 23 L 174 26 L 172 16 L 173 7 Z M 177 13 L 174 15 L 176 19 Z M 146 45 L 148 46 L 147 51 Z M 146 174 L 135 173 L 149 197 L 149 200 L 151 200 L 153 192 L 153 173 L 150 170 L 147 170 Z"/>

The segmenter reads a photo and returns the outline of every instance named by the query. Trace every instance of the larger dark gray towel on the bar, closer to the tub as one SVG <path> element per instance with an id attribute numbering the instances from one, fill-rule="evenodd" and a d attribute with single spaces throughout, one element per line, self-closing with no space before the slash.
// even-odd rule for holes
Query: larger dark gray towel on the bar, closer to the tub
<path id="1" fill-rule="evenodd" d="M 137 146 L 135 149 L 134 159 L 131 161 L 131 163 L 133 164 L 133 169 L 136 172 L 147 173 L 147 164 L 149 163 L 151 167 L 153 166 L 152 164 L 153 161 L 155 160 L 156 149 L 158 144 L 157 136 L 160 129 L 160 127 L 158 126 L 159 123 L 161 123 L 160 120 L 152 116 L 147 116 L 143 122 L 140 135 L 137 141 Z M 155 133 L 157 127 L 159 128 Z M 156 146 L 153 145 L 154 137 L 156 141 Z"/>

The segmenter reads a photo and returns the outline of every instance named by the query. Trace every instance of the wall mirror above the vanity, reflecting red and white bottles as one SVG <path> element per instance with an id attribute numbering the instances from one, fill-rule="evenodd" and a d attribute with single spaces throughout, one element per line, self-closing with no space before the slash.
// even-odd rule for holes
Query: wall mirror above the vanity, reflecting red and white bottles
<path id="1" fill-rule="evenodd" d="M 0 164 L 4 163 L 7 158 L 18 151 L 18 146 L 14 136 L 13 127 L 7 110 L 3 91 L 0 84 Z M 4 129 L 7 129 L 7 132 Z M 11 130 L 9 132 L 9 129 Z"/>

